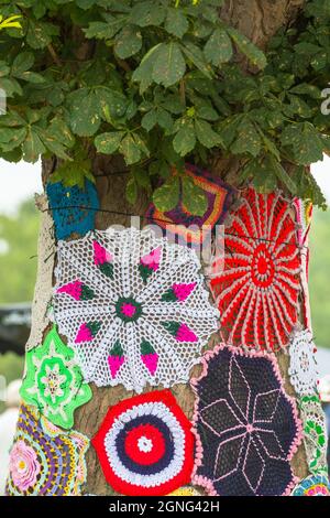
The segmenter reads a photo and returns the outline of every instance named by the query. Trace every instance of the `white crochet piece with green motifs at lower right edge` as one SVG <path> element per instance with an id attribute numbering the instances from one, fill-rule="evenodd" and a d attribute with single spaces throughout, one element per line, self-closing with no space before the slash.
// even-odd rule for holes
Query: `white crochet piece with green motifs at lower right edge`
<path id="1" fill-rule="evenodd" d="M 309 471 L 328 472 L 326 417 L 317 396 L 304 396 L 299 401 L 304 425 L 304 443 Z"/>

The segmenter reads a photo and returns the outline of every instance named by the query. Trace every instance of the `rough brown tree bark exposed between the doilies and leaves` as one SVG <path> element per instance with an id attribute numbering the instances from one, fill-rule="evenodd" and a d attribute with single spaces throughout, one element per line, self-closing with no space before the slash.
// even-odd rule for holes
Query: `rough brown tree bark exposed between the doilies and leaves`
<path id="1" fill-rule="evenodd" d="M 254 43 L 265 46 L 270 37 L 280 28 L 295 22 L 299 8 L 304 4 L 304 0 L 227 0 L 221 10 L 221 18 L 233 24 Z M 88 48 L 81 48 L 81 57 L 88 53 Z M 244 66 L 244 65 L 243 65 Z M 253 71 L 251 71 L 253 73 Z M 46 181 L 53 168 L 51 161 L 43 162 L 43 180 Z M 210 163 L 210 171 L 215 175 L 219 175 L 227 182 L 235 185 L 237 172 L 240 163 L 235 159 L 223 160 L 216 157 Z M 108 211 L 120 213 L 134 213 L 143 215 L 147 206 L 147 201 L 140 197 L 136 206 L 128 206 L 125 203 L 125 174 L 116 174 L 118 169 L 122 169 L 122 164 L 106 158 L 94 158 L 94 173 L 97 179 L 97 187 L 100 196 L 101 207 Z M 125 216 L 111 215 L 100 212 L 97 215 L 97 228 L 106 229 L 109 225 L 121 224 L 130 226 L 130 218 Z M 212 345 L 219 341 L 213 336 L 208 345 Z M 283 377 L 286 381 L 286 390 L 289 395 L 295 396 L 295 391 L 290 386 L 287 377 L 288 357 L 284 353 L 278 355 L 278 361 Z M 195 368 L 194 374 L 198 374 L 199 367 Z M 130 398 L 133 392 L 127 391 L 122 386 L 116 388 L 97 388 L 91 384 L 94 398 L 91 401 L 81 407 L 76 412 L 75 429 L 92 438 L 99 429 L 109 406 L 116 404 L 122 399 Z M 150 390 L 150 389 L 147 389 Z M 173 393 L 178 403 L 191 418 L 194 397 L 189 386 L 178 385 L 173 388 Z M 90 447 L 87 454 L 88 479 L 85 487 L 87 494 L 111 495 L 114 494 L 111 487 L 106 483 L 96 452 Z M 304 477 L 307 475 L 307 462 L 304 446 L 295 455 L 293 462 L 295 475 Z"/>

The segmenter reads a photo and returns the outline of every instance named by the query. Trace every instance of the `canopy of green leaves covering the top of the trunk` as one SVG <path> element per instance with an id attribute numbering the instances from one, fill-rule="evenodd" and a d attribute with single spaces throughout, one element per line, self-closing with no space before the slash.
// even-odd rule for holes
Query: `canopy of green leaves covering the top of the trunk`
<path id="1" fill-rule="evenodd" d="M 220 151 L 241 161 L 238 183 L 282 186 L 323 207 L 308 165 L 330 142 L 320 110 L 329 2 L 307 1 L 297 26 L 264 52 L 219 18 L 222 3 L 0 0 L 4 21 L 20 17 L 0 32 L 0 155 L 55 155 L 53 181 L 81 185 L 94 179 L 92 153 L 120 154 L 129 202 L 143 188 L 170 209 L 183 182 L 187 208 L 199 214 L 206 199 L 183 165 Z"/>

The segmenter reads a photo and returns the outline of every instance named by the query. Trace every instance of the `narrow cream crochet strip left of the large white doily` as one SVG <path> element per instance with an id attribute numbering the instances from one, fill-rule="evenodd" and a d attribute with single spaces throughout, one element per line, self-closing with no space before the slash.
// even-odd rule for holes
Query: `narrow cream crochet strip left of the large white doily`
<path id="1" fill-rule="evenodd" d="M 26 350 L 42 343 L 43 333 L 50 323 L 47 310 L 53 294 L 53 271 L 56 251 L 54 223 L 48 213 L 47 198 L 45 195 L 37 196 L 35 203 L 42 212 L 42 216 L 37 244 L 37 277 L 32 303 L 31 332 L 26 343 Z"/>

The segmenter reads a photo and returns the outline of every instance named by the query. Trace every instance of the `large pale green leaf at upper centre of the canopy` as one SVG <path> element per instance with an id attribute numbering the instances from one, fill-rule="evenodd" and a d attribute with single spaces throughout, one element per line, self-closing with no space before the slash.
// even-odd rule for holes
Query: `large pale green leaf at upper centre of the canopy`
<path id="1" fill-rule="evenodd" d="M 162 43 L 157 52 L 152 77 L 158 85 L 175 85 L 186 72 L 186 62 L 177 43 Z"/>

